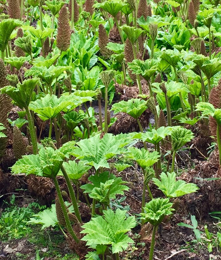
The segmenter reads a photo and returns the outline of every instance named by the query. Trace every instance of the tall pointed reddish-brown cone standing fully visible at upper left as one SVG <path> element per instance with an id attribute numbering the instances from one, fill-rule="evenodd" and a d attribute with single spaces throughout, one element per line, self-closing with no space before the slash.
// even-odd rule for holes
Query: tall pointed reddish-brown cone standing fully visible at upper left
<path id="1" fill-rule="evenodd" d="M 69 25 L 68 11 L 65 5 L 61 8 L 58 17 L 57 47 L 61 51 L 67 51 L 70 47 L 71 27 Z"/>

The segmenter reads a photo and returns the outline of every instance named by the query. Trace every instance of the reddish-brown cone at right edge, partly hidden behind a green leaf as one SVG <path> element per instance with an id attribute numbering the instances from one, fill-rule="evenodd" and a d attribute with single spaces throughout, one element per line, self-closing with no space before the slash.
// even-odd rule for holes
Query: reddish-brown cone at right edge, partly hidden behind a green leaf
<path id="1" fill-rule="evenodd" d="M 221 108 L 221 79 L 219 79 L 218 85 L 211 89 L 209 95 L 209 102 L 213 104 L 215 108 Z M 210 116 L 209 119 L 209 126 L 211 135 L 216 138 L 217 123 L 212 116 Z"/>

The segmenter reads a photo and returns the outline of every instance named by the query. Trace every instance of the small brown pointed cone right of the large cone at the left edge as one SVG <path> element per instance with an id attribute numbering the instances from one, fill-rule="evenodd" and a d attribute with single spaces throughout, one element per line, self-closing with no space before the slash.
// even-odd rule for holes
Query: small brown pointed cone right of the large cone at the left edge
<path id="1" fill-rule="evenodd" d="M 26 143 L 24 141 L 24 138 L 22 136 L 21 131 L 17 126 L 14 126 L 13 128 L 13 153 L 15 156 L 15 159 L 21 159 L 23 155 L 26 153 Z"/>

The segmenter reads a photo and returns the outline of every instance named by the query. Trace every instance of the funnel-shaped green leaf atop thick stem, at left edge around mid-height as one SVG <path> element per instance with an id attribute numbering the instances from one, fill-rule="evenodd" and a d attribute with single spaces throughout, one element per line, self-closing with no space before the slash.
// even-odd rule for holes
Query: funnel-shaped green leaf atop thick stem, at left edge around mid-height
<path id="1" fill-rule="evenodd" d="M 27 108 L 31 101 L 34 88 L 38 83 L 39 79 L 26 79 L 22 84 L 19 83 L 17 88 L 13 86 L 6 86 L 2 88 L 2 93 L 10 96 L 21 109 Z"/>

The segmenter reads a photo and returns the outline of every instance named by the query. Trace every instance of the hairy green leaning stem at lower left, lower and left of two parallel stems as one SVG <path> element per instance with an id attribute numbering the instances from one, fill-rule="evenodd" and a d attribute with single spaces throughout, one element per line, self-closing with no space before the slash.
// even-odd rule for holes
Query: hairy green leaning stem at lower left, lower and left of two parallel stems
<path id="1" fill-rule="evenodd" d="M 70 219 L 68 217 L 68 212 L 67 212 L 67 209 L 65 207 L 65 202 L 62 198 L 62 194 L 61 194 L 61 190 L 59 188 L 59 184 L 58 184 L 58 181 L 56 178 L 53 178 L 53 181 L 54 181 L 54 185 L 55 185 L 55 188 L 56 188 L 56 192 L 58 194 L 58 199 L 59 199 L 59 203 L 61 205 L 61 208 L 62 208 L 62 212 L 63 212 L 63 215 L 64 215 L 64 218 L 65 218 L 65 222 L 66 222 L 66 227 L 67 227 L 67 230 L 69 232 L 69 234 L 71 235 L 71 237 L 73 237 L 73 239 L 79 243 L 79 239 L 77 237 L 77 235 L 74 233 L 74 230 L 71 226 L 71 222 L 70 222 Z"/>

